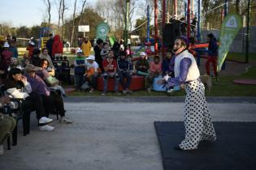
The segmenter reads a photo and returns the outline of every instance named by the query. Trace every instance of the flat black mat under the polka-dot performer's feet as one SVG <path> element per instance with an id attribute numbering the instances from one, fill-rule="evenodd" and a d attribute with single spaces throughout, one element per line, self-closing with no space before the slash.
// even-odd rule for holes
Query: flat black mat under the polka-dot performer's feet
<path id="1" fill-rule="evenodd" d="M 215 122 L 216 142 L 200 142 L 194 151 L 176 151 L 184 138 L 184 123 L 155 121 L 165 170 L 256 169 L 256 123 Z"/>

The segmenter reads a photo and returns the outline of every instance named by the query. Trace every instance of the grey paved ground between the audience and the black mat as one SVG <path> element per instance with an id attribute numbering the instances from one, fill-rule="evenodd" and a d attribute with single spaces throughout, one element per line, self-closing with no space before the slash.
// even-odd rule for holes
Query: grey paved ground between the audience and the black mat
<path id="1" fill-rule="evenodd" d="M 39 132 L 33 114 L 31 133 L 24 137 L 20 131 L 18 145 L 0 156 L 0 169 L 163 169 L 153 122 L 182 121 L 183 103 L 81 99 L 66 100 L 67 117 L 74 123 L 55 121 L 52 132 Z M 256 121 L 256 98 L 249 99 L 211 100 L 214 121 Z"/>

